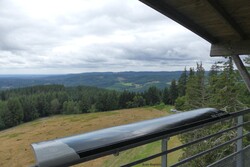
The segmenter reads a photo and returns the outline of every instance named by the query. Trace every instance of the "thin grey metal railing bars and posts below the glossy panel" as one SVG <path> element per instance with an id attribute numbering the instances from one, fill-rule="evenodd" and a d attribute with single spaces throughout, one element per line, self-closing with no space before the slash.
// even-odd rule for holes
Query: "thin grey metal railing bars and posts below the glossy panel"
<path id="1" fill-rule="evenodd" d="M 231 159 L 231 162 L 230 162 L 231 166 L 237 166 L 237 167 L 243 167 L 243 166 L 246 166 L 246 167 L 247 167 L 247 166 L 250 166 L 250 163 L 249 163 L 249 162 L 247 162 L 247 164 L 246 164 L 246 163 L 244 164 L 244 156 L 243 156 L 243 154 L 242 154 L 243 152 L 245 152 L 245 153 L 247 152 L 247 153 L 248 153 L 248 156 L 250 155 L 250 147 L 249 147 L 249 145 L 247 145 L 247 146 L 245 146 L 245 147 L 243 148 L 243 141 L 242 141 L 242 138 L 248 136 L 249 133 L 250 133 L 250 132 L 245 132 L 245 134 L 243 134 L 243 125 L 246 125 L 246 124 L 249 124 L 249 123 L 250 123 L 250 121 L 243 122 L 243 115 L 245 115 L 245 114 L 247 114 L 247 113 L 250 113 L 250 110 L 249 110 L 249 109 L 248 109 L 248 110 L 245 110 L 245 111 L 241 111 L 241 112 L 232 113 L 232 114 L 230 114 L 230 117 L 223 118 L 223 119 L 216 120 L 216 121 L 211 121 L 211 122 L 209 122 L 209 123 L 207 123 L 207 124 L 204 124 L 205 126 L 207 126 L 207 125 L 210 125 L 210 124 L 213 124 L 213 123 L 217 123 L 217 122 L 221 122 L 221 121 L 224 121 L 224 120 L 227 120 L 227 119 L 237 118 L 237 125 L 235 125 L 235 126 L 232 126 L 232 127 L 230 127 L 230 128 L 221 130 L 221 131 L 219 131 L 219 132 L 217 132 L 217 133 L 214 133 L 214 134 L 211 134 L 211 135 L 208 135 L 208 136 L 199 138 L 199 139 L 197 139 L 197 140 L 191 141 L 191 142 L 189 142 L 189 143 L 180 145 L 180 146 L 178 146 L 178 147 L 175 147 L 175 148 L 172 148 L 172 149 L 169 149 L 169 150 L 167 150 L 167 146 L 166 146 L 166 145 L 167 145 L 167 141 L 168 141 L 168 139 L 169 139 L 170 137 L 172 137 L 173 135 L 168 135 L 168 137 L 167 137 L 166 139 L 163 139 L 163 140 L 162 140 L 162 146 L 163 146 L 163 147 L 162 147 L 162 152 L 161 152 L 161 153 L 151 155 L 151 156 L 149 156 L 149 157 L 146 157 L 146 158 L 143 158 L 143 159 L 140 159 L 140 160 L 131 162 L 131 163 L 126 164 L 126 165 L 122 165 L 122 167 L 129 167 L 129 166 L 134 166 L 134 165 L 137 165 L 137 164 L 141 164 L 141 163 L 143 163 L 143 162 L 149 161 L 149 160 L 154 159 L 154 158 L 157 158 L 157 157 L 159 157 L 159 156 L 162 156 L 162 163 L 161 163 L 161 166 L 162 166 L 162 167 L 166 167 L 166 166 L 168 166 L 168 165 L 167 165 L 167 155 L 168 155 L 169 153 L 172 153 L 172 152 L 174 152 L 174 151 L 183 149 L 183 148 L 188 147 L 188 146 L 190 146 L 190 145 L 193 145 L 193 144 L 196 144 L 196 143 L 205 141 L 205 140 L 210 139 L 210 138 L 212 138 L 212 137 L 219 136 L 219 135 L 221 135 L 221 134 L 224 134 L 224 133 L 229 132 L 229 131 L 232 131 L 232 130 L 236 130 L 236 131 L 237 131 L 237 136 L 236 136 L 235 138 L 230 139 L 230 140 L 228 140 L 228 141 L 226 141 L 226 142 L 224 142 L 224 143 L 221 143 L 221 144 L 219 144 L 219 145 L 217 145 L 217 146 L 215 146 L 215 147 L 213 147 L 213 148 L 204 150 L 204 151 L 202 151 L 202 152 L 200 152 L 200 153 L 198 153 L 198 154 L 196 154 L 196 155 L 192 155 L 192 156 L 190 156 L 190 157 L 188 157 L 188 158 L 186 158 L 186 159 L 183 159 L 183 160 L 177 162 L 176 164 L 171 165 L 171 167 L 176 167 L 176 166 L 183 165 L 183 164 L 185 164 L 185 163 L 187 163 L 187 162 L 189 162 L 189 161 L 192 161 L 192 160 L 194 160 L 194 159 L 196 159 L 196 158 L 198 158 L 198 157 L 200 157 L 200 156 L 203 156 L 203 155 L 205 155 L 205 154 L 207 154 L 207 153 L 209 153 L 209 152 L 212 152 L 212 151 L 214 151 L 214 150 L 216 150 L 216 149 L 219 149 L 219 148 L 221 148 L 221 147 L 223 147 L 223 146 L 225 146 L 225 145 L 229 145 L 230 143 L 233 143 L 233 142 L 236 142 L 236 151 L 235 151 L 234 153 L 230 154 L 229 156 L 224 157 L 224 158 L 221 159 L 221 160 L 218 160 L 218 161 L 216 161 L 216 162 L 214 162 L 214 163 L 211 163 L 209 166 L 215 167 L 215 166 L 217 166 L 218 164 L 220 164 L 220 165 L 218 165 L 218 166 L 230 166 L 230 165 L 228 164 L 228 161 L 229 161 L 229 159 L 232 158 L 232 157 L 233 157 L 234 159 L 233 159 L 233 161 L 232 161 L 232 159 Z M 198 125 L 198 126 L 196 126 L 196 128 L 198 129 L 198 128 L 204 127 L 204 125 Z M 188 131 L 189 131 L 189 130 L 188 130 Z M 182 131 L 182 133 L 184 133 L 184 132 L 187 132 L 187 131 Z M 176 135 L 176 134 L 174 134 L 174 135 Z M 177 135 L 178 135 L 178 134 L 177 134 Z M 237 157 L 234 157 L 235 155 L 237 155 Z M 246 157 L 246 156 L 245 156 L 245 157 Z M 247 158 L 250 158 L 250 157 L 247 157 Z M 223 164 L 223 163 L 225 163 L 225 164 L 227 163 L 227 165 L 221 165 L 221 164 Z"/>

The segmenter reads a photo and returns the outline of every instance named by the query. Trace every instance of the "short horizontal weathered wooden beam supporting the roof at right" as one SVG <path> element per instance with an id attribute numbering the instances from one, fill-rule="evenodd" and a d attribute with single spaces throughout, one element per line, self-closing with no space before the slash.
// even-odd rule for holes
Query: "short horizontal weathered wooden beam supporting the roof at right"
<path id="1" fill-rule="evenodd" d="M 250 40 L 212 44 L 210 56 L 231 56 L 250 54 Z"/>

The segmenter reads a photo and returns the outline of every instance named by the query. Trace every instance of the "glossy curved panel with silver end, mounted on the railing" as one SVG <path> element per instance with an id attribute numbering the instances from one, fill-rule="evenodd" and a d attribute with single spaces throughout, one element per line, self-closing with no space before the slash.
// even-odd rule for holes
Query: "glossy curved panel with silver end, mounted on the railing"
<path id="1" fill-rule="evenodd" d="M 153 120 L 98 130 L 82 135 L 36 143 L 32 144 L 32 147 L 36 154 L 38 166 L 49 163 L 53 163 L 53 166 L 62 166 L 62 162 L 65 163 L 65 165 L 73 165 L 103 155 L 114 154 L 124 149 L 124 147 L 129 149 L 149 143 L 152 140 L 157 140 L 157 137 L 164 137 L 164 135 L 167 135 L 167 132 L 171 132 L 171 129 L 178 129 L 178 127 L 188 124 L 203 124 L 204 122 L 202 121 L 209 122 L 221 119 L 225 115 L 227 115 L 225 112 L 217 109 L 198 109 Z M 179 128 L 179 131 L 181 130 L 182 128 Z M 73 149 L 74 153 L 66 155 L 58 154 L 56 150 L 60 150 L 61 148 L 51 150 L 51 147 L 48 147 L 48 145 L 53 145 L 53 143 L 63 143 Z M 44 154 L 47 152 L 50 156 L 47 158 L 43 157 L 40 154 L 41 151 Z M 65 158 L 75 154 L 77 154 L 79 158 L 71 160 Z M 58 164 L 55 163 L 54 159 L 56 159 Z"/>

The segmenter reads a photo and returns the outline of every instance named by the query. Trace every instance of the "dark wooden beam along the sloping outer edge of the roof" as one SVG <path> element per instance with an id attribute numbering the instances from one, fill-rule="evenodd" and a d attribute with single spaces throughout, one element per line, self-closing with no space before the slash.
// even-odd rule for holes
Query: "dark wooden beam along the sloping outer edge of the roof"
<path id="1" fill-rule="evenodd" d="M 167 1 L 163 1 L 163 0 L 140 0 L 140 1 L 150 6 L 151 8 L 157 10 L 158 12 L 162 13 L 163 15 L 169 17 L 170 19 L 176 21 L 182 26 L 186 27 L 187 29 L 199 35 L 200 37 L 204 38 L 208 42 L 210 43 L 219 42 L 217 38 L 215 38 L 212 34 L 210 34 L 204 28 L 202 28 L 201 26 L 193 22 L 184 14 L 177 11 L 174 7 L 171 7 L 167 3 Z"/>

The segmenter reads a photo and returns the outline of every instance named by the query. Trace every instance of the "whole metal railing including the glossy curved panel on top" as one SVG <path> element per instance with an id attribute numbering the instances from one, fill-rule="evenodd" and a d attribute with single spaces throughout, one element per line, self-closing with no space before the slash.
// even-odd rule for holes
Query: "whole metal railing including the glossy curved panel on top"
<path id="1" fill-rule="evenodd" d="M 175 164 L 171 164 L 170 166 L 185 166 L 187 163 L 199 157 L 214 152 L 225 146 L 232 146 L 234 143 L 234 152 L 226 157 L 222 157 L 216 162 L 211 162 L 209 166 L 250 166 L 250 160 L 245 158 L 247 156 L 250 157 L 250 146 L 248 144 L 243 145 L 243 138 L 246 138 L 250 133 L 243 128 L 243 126 L 250 123 L 250 120 L 244 122 L 243 116 L 249 113 L 250 109 L 235 113 L 226 113 L 210 108 L 200 109 L 135 124 L 108 128 L 78 136 L 42 142 L 33 144 L 32 146 L 36 154 L 37 166 L 69 166 L 109 154 L 118 155 L 121 151 L 161 140 L 162 151 L 160 153 L 156 153 L 121 166 L 135 166 L 154 158 L 161 157 L 161 166 L 167 167 L 169 166 L 167 161 L 168 154 L 209 139 L 218 138 L 229 132 L 235 132 L 233 133 L 235 135 L 232 135 L 227 141 L 223 141 L 223 143 L 219 143 L 211 148 L 202 150 L 201 152 L 182 159 Z M 220 129 L 213 134 L 202 136 L 175 148 L 168 149 L 167 147 L 168 140 L 173 136 L 189 133 L 218 123 L 221 125 L 227 124 L 231 126 Z"/>

